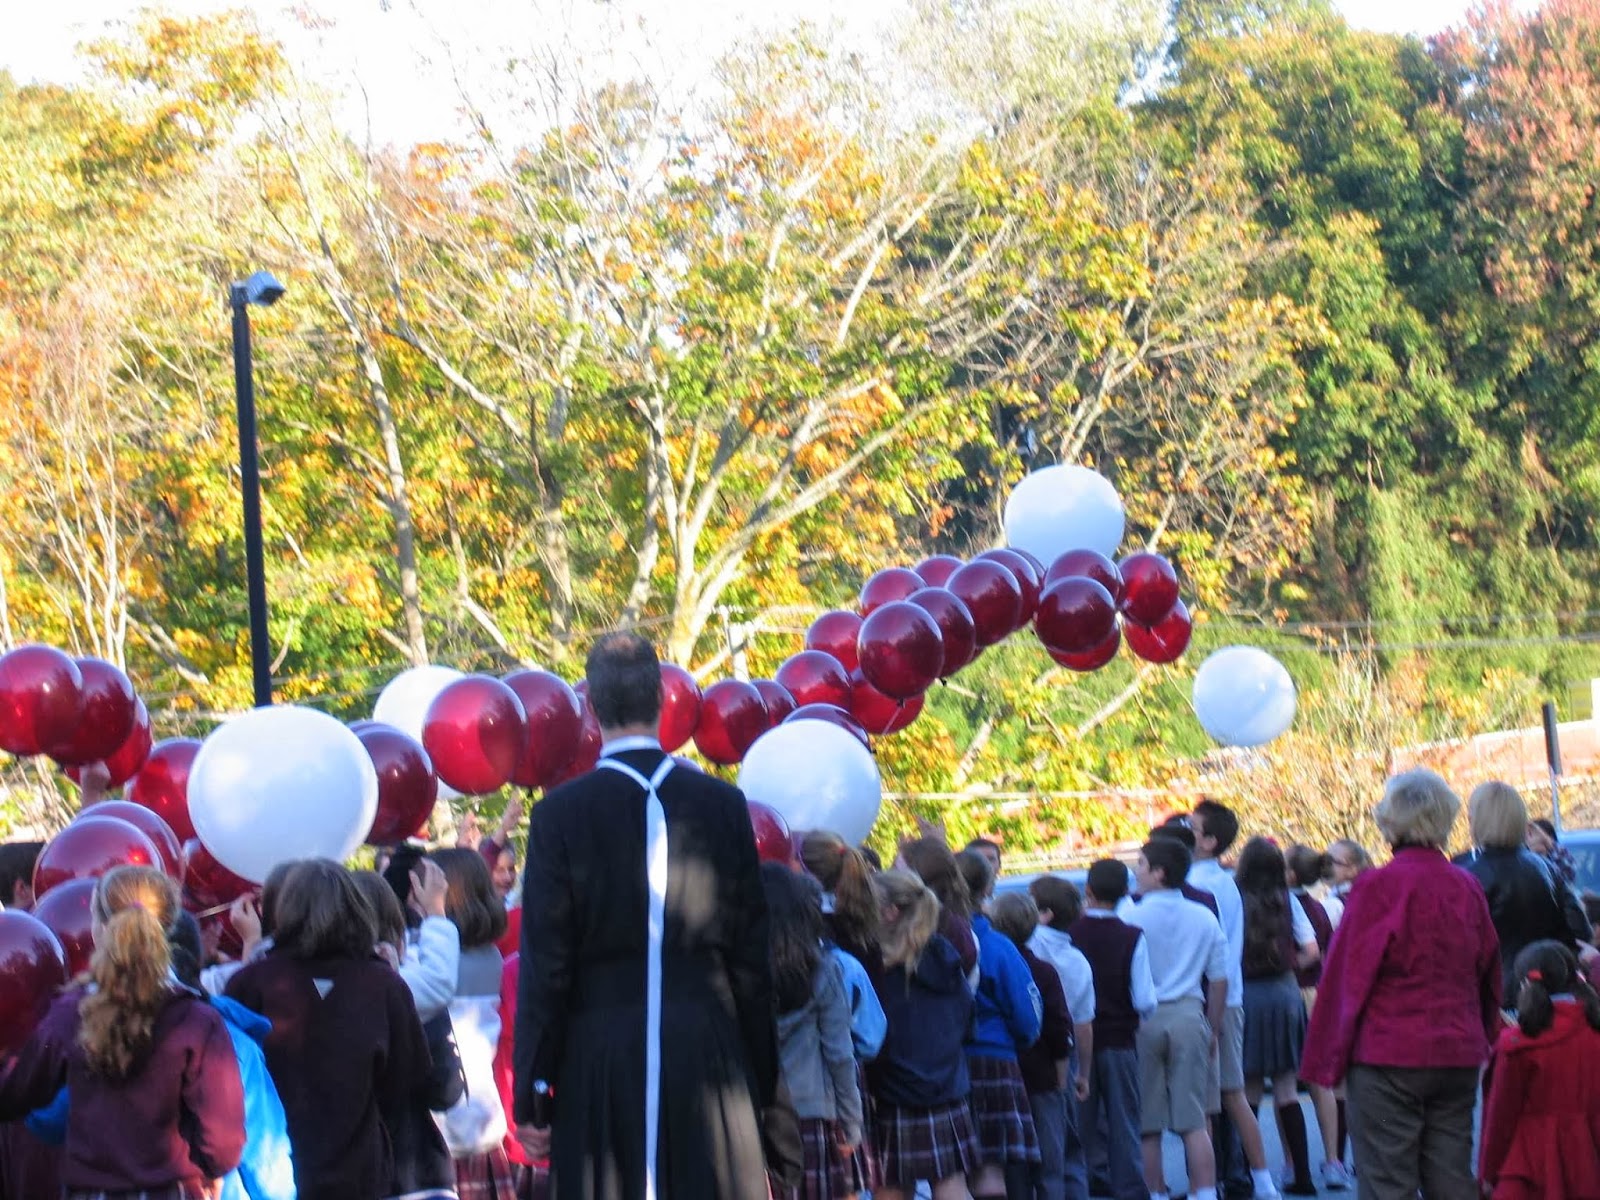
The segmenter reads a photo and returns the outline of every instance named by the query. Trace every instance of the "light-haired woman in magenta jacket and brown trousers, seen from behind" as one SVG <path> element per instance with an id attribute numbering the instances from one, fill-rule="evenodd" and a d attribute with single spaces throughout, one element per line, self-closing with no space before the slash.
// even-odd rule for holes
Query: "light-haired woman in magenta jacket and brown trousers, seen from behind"
<path id="1" fill-rule="evenodd" d="M 1347 1088 L 1362 1200 L 1477 1195 L 1501 958 L 1483 890 L 1445 858 L 1459 813 L 1432 771 L 1389 781 L 1373 816 L 1394 859 L 1357 880 L 1323 965 L 1301 1077 Z"/>

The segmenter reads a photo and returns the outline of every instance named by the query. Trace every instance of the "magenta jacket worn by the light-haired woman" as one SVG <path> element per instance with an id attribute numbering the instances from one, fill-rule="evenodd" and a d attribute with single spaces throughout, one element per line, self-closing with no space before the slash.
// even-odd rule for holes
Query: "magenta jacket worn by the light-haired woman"
<path id="1" fill-rule="evenodd" d="M 1331 1088 L 1352 1062 L 1480 1067 L 1502 1027 L 1499 1005 L 1499 939 L 1483 888 L 1437 850 L 1397 850 L 1346 901 L 1301 1078 Z"/>

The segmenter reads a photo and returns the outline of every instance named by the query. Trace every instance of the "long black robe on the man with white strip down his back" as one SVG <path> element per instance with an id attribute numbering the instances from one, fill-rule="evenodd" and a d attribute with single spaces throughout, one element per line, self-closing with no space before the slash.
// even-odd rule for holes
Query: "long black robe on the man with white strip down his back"
<path id="1" fill-rule="evenodd" d="M 616 755 L 650 778 L 659 749 Z M 766 1200 L 762 1112 L 778 1094 L 766 901 L 744 795 L 675 766 L 667 827 L 658 1200 Z M 528 821 L 515 1117 L 555 1088 L 558 1200 L 645 1195 L 645 792 L 597 770 Z"/>

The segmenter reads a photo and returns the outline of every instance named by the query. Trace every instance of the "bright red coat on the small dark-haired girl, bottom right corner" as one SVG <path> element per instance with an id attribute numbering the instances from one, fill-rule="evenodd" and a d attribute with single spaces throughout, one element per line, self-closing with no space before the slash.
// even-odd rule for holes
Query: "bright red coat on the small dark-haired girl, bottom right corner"
<path id="1" fill-rule="evenodd" d="M 1582 1005 L 1557 1002 L 1538 1037 L 1501 1034 L 1482 1146 L 1496 1200 L 1600 1197 L 1600 1034 Z"/>

